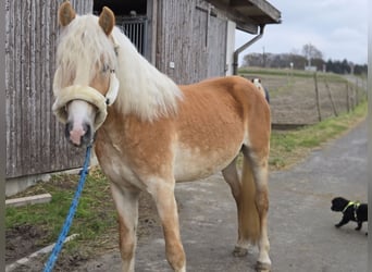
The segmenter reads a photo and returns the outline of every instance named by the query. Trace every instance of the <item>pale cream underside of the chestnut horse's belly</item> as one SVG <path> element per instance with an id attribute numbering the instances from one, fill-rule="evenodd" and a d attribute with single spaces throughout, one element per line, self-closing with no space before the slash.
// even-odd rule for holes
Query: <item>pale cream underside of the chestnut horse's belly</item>
<path id="1" fill-rule="evenodd" d="M 238 154 L 239 147 L 221 150 L 177 148 L 174 161 L 176 182 L 195 181 L 210 176 L 226 168 Z"/>

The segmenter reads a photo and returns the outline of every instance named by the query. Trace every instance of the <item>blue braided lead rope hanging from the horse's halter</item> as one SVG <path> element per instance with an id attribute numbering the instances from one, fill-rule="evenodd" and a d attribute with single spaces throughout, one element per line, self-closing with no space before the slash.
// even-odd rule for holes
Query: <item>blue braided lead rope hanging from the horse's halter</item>
<path id="1" fill-rule="evenodd" d="M 90 149 L 91 149 L 91 145 L 88 145 L 87 153 L 86 153 L 85 161 L 84 161 L 84 166 L 83 166 L 83 170 L 80 171 L 80 180 L 78 182 L 74 199 L 70 206 L 69 214 L 67 214 L 67 217 L 63 223 L 62 231 L 60 233 L 60 236 L 58 237 L 58 240 L 55 242 L 55 245 L 53 247 L 52 252 L 49 256 L 49 259 L 48 259 L 48 262 L 46 263 L 44 272 L 52 271 L 54 263 L 57 261 L 57 258 L 62 250 L 63 242 L 65 240 L 65 238 L 69 234 L 70 226 L 72 224 L 72 221 L 74 219 L 76 208 L 78 205 L 78 199 L 80 198 L 80 195 L 82 195 L 82 191 L 84 188 L 84 184 L 85 184 L 85 180 L 86 180 L 86 176 L 88 174 L 88 166 L 89 166 L 89 160 L 90 160 Z"/>

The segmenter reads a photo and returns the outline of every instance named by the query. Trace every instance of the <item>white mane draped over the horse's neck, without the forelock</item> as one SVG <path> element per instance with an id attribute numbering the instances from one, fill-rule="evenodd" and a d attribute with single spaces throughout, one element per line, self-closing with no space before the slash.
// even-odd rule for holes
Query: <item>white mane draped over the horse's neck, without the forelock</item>
<path id="1" fill-rule="evenodd" d="M 175 83 L 141 57 L 119 29 L 113 35 L 120 45 L 120 94 L 115 103 L 119 111 L 148 121 L 176 113 L 182 92 Z"/>

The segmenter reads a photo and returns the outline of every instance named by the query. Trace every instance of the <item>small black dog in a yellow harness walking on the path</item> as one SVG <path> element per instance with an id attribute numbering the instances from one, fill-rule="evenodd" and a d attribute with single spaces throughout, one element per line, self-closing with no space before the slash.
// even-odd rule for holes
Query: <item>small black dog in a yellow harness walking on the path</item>
<path id="1" fill-rule="evenodd" d="M 349 221 L 355 221 L 358 223 L 356 231 L 360 231 L 362 223 L 368 221 L 367 203 L 352 202 L 343 197 L 336 197 L 332 200 L 331 210 L 343 212 L 343 219 L 338 224 L 335 224 L 336 227 L 340 227 Z"/>

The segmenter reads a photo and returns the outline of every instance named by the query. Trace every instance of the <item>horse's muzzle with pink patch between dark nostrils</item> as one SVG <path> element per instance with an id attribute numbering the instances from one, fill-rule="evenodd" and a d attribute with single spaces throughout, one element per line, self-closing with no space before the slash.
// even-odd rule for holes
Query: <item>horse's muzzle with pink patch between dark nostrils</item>
<path id="1" fill-rule="evenodd" d="M 65 136 L 74 146 L 83 147 L 92 143 L 94 129 L 89 123 L 83 123 L 80 127 L 74 127 L 73 122 L 67 122 L 65 125 Z"/>

